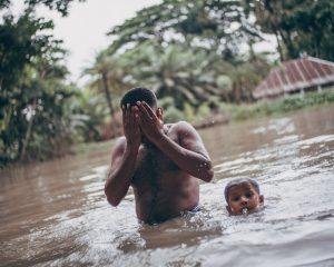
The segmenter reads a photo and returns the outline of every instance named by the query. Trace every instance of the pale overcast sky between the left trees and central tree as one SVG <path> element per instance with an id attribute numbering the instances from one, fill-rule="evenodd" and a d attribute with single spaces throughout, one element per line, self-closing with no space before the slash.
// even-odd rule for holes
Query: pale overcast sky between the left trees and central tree
<path id="1" fill-rule="evenodd" d="M 20 12 L 22 2 L 13 1 L 13 12 Z M 62 39 L 65 48 L 69 50 L 67 66 L 72 73 L 71 80 L 77 81 L 82 69 L 94 62 L 97 52 L 110 44 L 110 38 L 106 33 L 112 26 L 122 23 L 143 8 L 160 2 L 161 0 L 86 0 L 73 2 L 66 18 L 47 8 L 39 8 L 37 13 L 53 20 L 53 34 Z"/>

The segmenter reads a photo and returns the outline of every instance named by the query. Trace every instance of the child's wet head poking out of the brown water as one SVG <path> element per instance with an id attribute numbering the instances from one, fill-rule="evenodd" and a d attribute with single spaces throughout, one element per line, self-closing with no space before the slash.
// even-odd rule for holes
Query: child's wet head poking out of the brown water
<path id="1" fill-rule="evenodd" d="M 254 212 L 263 204 L 257 181 L 250 178 L 237 178 L 229 181 L 224 190 L 226 209 L 230 215 Z"/>

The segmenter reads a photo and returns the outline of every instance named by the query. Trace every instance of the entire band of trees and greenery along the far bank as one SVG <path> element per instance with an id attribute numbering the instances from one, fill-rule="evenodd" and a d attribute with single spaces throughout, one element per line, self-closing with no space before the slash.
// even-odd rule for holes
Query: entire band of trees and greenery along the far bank
<path id="1" fill-rule="evenodd" d="M 334 60 L 330 0 L 164 0 L 110 29 L 112 42 L 86 66 L 84 88 L 68 82 L 62 41 L 35 11 L 43 4 L 66 16 L 72 0 L 24 0 L 17 17 L 11 2 L 0 1 L 0 166 L 119 135 L 118 102 L 131 87 L 153 89 L 167 122 L 195 125 L 213 115 L 246 119 L 333 99 L 324 92 L 254 103 L 252 95 L 278 63 L 273 56 Z M 265 34 L 276 37 L 275 55 L 256 52 Z"/>

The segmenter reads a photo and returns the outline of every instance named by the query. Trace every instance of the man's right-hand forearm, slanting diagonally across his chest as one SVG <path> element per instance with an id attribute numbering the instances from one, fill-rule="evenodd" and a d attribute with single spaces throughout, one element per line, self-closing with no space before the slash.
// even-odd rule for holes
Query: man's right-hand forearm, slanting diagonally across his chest
<path id="1" fill-rule="evenodd" d="M 208 157 L 183 148 L 166 135 L 161 135 L 161 137 L 155 141 L 155 145 L 180 169 L 202 180 L 212 180 L 213 169 L 212 161 Z"/>

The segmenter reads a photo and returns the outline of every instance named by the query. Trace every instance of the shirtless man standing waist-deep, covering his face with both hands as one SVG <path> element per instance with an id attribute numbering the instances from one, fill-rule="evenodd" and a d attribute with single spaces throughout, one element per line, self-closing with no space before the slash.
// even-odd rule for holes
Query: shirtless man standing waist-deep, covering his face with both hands
<path id="1" fill-rule="evenodd" d="M 134 188 L 136 212 L 148 224 L 196 210 L 198 179 L 210 181 L 212 161 L 197 131 L 187 122 L 165 125 L 155 93 L 135 88 L 125 93 L 124 137 L 115 144 L 105 192 L 117 206 Z"/>

